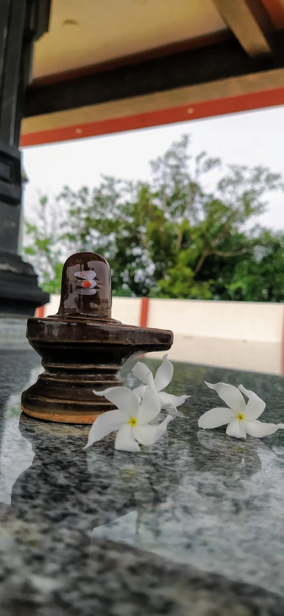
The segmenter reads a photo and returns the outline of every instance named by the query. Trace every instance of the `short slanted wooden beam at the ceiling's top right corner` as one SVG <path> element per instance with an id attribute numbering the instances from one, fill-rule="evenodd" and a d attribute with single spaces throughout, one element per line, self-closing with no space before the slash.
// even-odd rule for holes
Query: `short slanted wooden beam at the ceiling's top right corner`
<path id="1" fill-rule="evenodd" d="M 213 0 L 242 48 L 251 57 L 273 55 L 275 31 L 261 0 Z"/>

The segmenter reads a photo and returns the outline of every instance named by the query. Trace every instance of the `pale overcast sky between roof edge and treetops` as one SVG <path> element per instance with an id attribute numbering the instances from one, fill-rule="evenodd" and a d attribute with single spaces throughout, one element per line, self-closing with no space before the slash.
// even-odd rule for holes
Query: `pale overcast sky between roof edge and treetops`
<path id="1" fill-rule="evenodd" d="M 163 154 L 182 133 L 192 136 L 192 153 L 207 150 L 224 163 L 266 165 L 284 176 L 284 106 L 244 114 L 187 121 L 141 131 L 23 148 L 29 183 L 25 214 L 37 202 L 38 191 L 57 194 L 63 185 L 92 187 L 99 176 L 146 180 L 148 160 Z M 263 224 L 284 229 L 284 194 L 271 194 Z"/>

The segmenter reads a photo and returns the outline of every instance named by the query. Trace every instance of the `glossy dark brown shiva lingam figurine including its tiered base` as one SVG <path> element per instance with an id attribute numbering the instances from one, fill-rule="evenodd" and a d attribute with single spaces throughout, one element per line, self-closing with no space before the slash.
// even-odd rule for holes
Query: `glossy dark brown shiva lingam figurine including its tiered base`
<path id="1" fill-rule="evenodd" d="M 23 412 L 68 424 L 92 424 L 114 409 L 93 390 L 123 385 L 118 372 L 127 359 L 167 351 L 173 344 L 172 331 L 111 319 L 110 268 L 95 253 L 67 259 L 58 313 L 28 319 L 27 337 L 43 358 L 45 372 L 23 392 Z"/>

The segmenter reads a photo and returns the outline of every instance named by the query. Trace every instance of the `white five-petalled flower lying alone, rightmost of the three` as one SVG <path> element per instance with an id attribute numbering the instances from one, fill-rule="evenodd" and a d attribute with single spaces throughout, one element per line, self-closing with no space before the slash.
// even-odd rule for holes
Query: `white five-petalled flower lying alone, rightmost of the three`
<path id="1" fill-rule="evenodd" d="M 243 385 L 239 385 L 239 388 L 226 383 L 215 383 L 214 385 L 206 383 L 206 385 L 215 390 L 229 408 L 219 407 L 204 413 L 198 420 L 200 428 L 218 428 L 228 424 L 226 428 L 228 436 L 246 439 L 246 434 L 249 434 L 261 439 L 262 436 L 273 434 L 282 427 L 283 424 L 258 422 L 258 417 L 263 413 L 266 403 L 254 392 L 246 390 Z M 241 392 L 249 398 L 247 404 Z"/>

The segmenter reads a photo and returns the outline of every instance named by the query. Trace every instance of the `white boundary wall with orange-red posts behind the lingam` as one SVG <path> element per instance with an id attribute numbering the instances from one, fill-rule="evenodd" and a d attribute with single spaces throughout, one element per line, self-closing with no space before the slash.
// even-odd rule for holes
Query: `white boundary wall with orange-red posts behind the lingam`
<path id="1" fill-rule="evenodd" d="M 51 295 L 45 316 L 58 311 L 59 301 Z M 140 298 L 113 298 L 114 319 L 139 325 L 140 314 Z M 173 360 L 280 374 L 283 315 L 284 304 L 150 299 L 148 327 L 173 330 Z"/>

